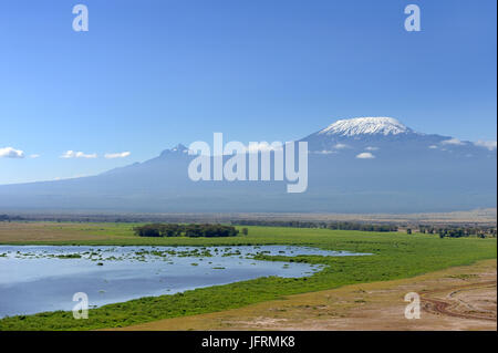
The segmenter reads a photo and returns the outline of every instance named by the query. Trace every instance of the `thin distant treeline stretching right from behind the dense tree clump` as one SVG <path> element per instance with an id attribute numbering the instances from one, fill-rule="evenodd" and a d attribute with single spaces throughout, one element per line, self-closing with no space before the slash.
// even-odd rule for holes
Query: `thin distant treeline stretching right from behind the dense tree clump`
<path id="1" fill-rule="evenodd" d="M 369 225 L 351 221 L 302 221 L 302 220 L 239 220 L 240 226 L 264 226 L 264 227 L 291 227 L 291 228 L 324 228 L 340 230 L 362 230 L 362 231 L 397 231 L 394 225 Z"/>

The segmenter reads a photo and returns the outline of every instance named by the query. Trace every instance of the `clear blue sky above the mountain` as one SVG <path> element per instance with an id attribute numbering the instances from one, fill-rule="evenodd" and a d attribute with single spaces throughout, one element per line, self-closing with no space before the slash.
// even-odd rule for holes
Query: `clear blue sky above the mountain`
<path id="1" fill-rule="evenodd" d="M 72 30 L 76 3 L 89 32 Z M 408 3 L 421 32 L 404 30 Z M 0 149 L 25 157 L 0 158 L 0 184 L 92 175 L 214 132 L 290 141 L 354 116 L 496 141 L 496 11 L 495 0 L 4 1 Z"/>

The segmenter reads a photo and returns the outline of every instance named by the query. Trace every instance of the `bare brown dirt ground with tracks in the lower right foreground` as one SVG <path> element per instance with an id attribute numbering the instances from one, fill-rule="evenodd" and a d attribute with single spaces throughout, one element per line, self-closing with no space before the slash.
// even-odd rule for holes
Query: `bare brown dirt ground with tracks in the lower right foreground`
<path id="1" fill-rule="evenodd" d="M 411 279 L 353 284 L 123 330 L 497 330 L 497 261 Z M 421 297 L 421 319 L 404 297 Z"/>

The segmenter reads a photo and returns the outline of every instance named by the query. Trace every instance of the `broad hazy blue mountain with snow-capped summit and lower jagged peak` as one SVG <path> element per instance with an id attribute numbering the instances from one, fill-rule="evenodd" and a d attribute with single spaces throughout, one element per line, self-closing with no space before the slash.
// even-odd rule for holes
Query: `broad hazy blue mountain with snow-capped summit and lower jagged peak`
<path id="1" fill-rule="evenodd" d="M 127 212 L 427 212 L 496 207 L 496 146 L 423 134 L 392 117 L 340 120 L 308 142 L 309 181 L 191 181 L 195 156 L 92 176 L 0 186 L 1 209 Z"/>

